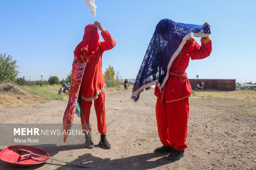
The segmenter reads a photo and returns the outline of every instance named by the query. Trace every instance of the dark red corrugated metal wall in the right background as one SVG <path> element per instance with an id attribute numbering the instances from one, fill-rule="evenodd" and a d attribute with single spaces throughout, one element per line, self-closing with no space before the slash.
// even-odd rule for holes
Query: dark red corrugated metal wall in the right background
<path id="1" fill-rule="evenodd" d="M 235 90 L 235 79 L 188 79 L 192 89 L 204 82 L 204 89 Z"/>

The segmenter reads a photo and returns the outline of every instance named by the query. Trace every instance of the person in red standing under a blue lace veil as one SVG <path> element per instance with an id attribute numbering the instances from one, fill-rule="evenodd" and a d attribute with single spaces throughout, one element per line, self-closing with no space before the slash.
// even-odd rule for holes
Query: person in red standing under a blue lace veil
<path id="1" fill-rule="evenodd" d="M 145 87 L 155 87 L 156 121 L 162 147 L 154 151 L 168 152 L 168 159 L 177 161 L 185 156 L 189 100 L 192 89 L 187 80 L 186 68 L 192 60 L 211 54 L 209 23 L 204 26 L 176 23 L 162 19 L 156 25 L 145 57 L 137 75 L 132 99 L 136 102 Z M 195 34 L 194 34 L 195 33 Z M 201 46 L 191 35 L 201 38 Z"/>

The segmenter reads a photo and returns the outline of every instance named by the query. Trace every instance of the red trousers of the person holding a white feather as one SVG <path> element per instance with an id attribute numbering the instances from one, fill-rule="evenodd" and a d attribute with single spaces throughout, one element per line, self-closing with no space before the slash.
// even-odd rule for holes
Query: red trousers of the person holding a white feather
<path id="1" fill-rule="evenodd" d="M 81 107 L 83 112 L 81 112 L 81 123 L 82 127 L 84 123 L 90 123 L 90 110 L 92 106 L 92 101 L 81 100 Z M 106 125 L 106 111 L 105 111 L 105 92 L 98 95 L 98 98 L 94 100 L 94 108 L 97 116 L 98 131 L 100 134 L 105 134 L 107 132 Z M 85 118 L 85 121 L 84 121 Z"/>

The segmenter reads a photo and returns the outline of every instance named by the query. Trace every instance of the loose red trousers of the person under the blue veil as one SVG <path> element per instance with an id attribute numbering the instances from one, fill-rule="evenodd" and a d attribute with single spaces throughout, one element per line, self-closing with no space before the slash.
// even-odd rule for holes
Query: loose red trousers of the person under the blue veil
<path id="1" fill-rule="evenodd" d="M 187 121 L 189 116 L 188 98 L 161 103 L 156 101 L 156 122 L 160 141 L 175 150 L 185 150 L 187 139 Z"/>

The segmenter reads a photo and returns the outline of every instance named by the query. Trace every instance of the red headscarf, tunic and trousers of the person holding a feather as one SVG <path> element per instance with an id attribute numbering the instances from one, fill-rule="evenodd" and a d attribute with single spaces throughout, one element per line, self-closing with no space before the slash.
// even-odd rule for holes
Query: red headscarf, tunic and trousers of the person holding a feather
<path id="1" fill-rule="evenodd" d="M 104 76 L 102 74 L 102 54 L 112 49 L 116 42 L 107 30 L 101 32 L 104 42 L 99 42 L 97 27 L 89 24 L 85 27 L 83 41 L 78 44 L 74 54 L 79 62 L 85 62 L 85 69 L 81 82 L 79 97 L 81 100 L 81 123 L 90 123 L 90 108 L 92 101 L 97 115 L 97 125 L 100 134 L 107 132 L 105 111 L 105 89 Z M 85 118 L 85 121 L 84 119 Z"/>

